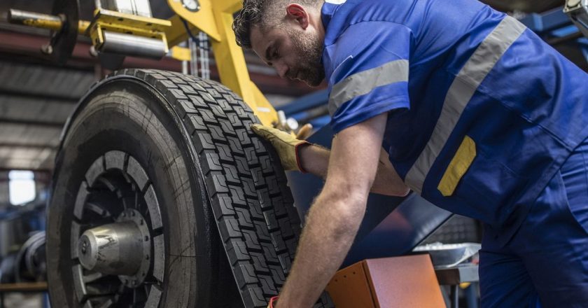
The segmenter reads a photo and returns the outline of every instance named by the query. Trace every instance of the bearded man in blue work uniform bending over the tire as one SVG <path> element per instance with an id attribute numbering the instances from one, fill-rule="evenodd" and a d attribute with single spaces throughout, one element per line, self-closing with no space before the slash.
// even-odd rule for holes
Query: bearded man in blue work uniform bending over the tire
<path id="1" fill-rule="evenodd" d="M 407 187 L 484 223 L 483 307 L 588 307 L 587 74 L 475 0 L 333 1 L 245 0 L 233 26 L 330 91 L 330 153 L 253 127 L 286 169 L 325 177 L 277 307 L 310 307 L 368 193 Z"/>

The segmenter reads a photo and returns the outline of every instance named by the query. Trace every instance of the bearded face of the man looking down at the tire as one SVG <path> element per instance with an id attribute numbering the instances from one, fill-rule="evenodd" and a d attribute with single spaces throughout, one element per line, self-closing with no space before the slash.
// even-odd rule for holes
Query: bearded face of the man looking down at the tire
<path id="1" fill-rule="evenodd" d="M 312 31 L 285 28 L 251 30 L 253 51 L 269 66 L 274 66 L 282 78 L 302 80 L 311 87 L 321 84 L 325 69 L 321 62 L 323 41 Z"/>

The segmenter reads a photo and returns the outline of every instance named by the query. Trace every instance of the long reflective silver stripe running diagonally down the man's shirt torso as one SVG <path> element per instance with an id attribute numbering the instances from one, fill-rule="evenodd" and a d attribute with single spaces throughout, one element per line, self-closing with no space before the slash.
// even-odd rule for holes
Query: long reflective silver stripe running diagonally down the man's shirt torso
<path id="1" fill-rule="evenodd" d="M 405 183 L 416 193 L 422 192 L 426 176 L 454 130 L 465 105 L 470 102 L 477 87 L 493 69 L 500 57 L 514 41 L 517 41 L 525 29 L 526 27 L 518 20 L 510 16 L 506 17 L 478 46 L 456 76 L 449 87 L 441 115 L 430 140 L 406 175 Z"/>

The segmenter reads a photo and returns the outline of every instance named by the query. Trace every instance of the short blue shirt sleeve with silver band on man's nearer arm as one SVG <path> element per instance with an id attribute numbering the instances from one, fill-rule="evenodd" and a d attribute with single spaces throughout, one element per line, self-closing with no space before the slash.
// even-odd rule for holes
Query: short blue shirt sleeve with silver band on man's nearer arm
<path id="1" fill-rule="evenodd" d="M 328 109 L 337 133 L 381 113 L 409 109 L 412 32 L 393 22 L 359 22 L 327 47 Z"/>

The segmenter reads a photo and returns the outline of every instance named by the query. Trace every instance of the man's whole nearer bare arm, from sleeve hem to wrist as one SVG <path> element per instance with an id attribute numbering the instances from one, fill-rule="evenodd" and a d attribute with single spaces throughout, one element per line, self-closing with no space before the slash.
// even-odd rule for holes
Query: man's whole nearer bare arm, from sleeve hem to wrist
<path id="1" fill-rule="evenodd" d="M 385 115 L 376 116 L 333 140 L 325 187 L 309 211 L 277 307 L 311 307 L 343 262 L 365 214 L 385 124 Z"/>

